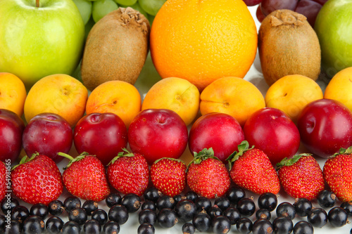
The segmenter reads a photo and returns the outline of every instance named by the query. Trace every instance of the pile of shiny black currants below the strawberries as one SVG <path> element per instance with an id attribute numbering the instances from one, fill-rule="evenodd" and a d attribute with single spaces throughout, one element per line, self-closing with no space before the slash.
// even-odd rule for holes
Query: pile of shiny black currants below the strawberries
<path id="1" fill-rule="evenodd" d="M 4 215 L 0 215 L 0 233 L 116 234 L 130 214 L 138 211 L 138 234 L 153 234 L 156 225 L 172 228 L 176 223 L 182 223 L 184 234 L 196 231 L 224 234 L 230 230 L 244 234 L 309 234 L 313 233 L 313 228 L 322 228 L 327 222 L 334 227 L 344 226 L 348 216 L 352 216 L 352 203 L 342 202 L 341 206 L 336 206 L 337 197 L 329 190 L 318 195 L 320 207 L 313 207 L 305 198 L 296 199 L 293 204 L 278 204 L 277 195 L 272 193 L 260 195 L 255 202 L 238 187 L 230 188 L 225 196 L 215 200 L 192 191 L 170 197 L 151 187 L 143 197 L 111 193 L 105 202 L 107 212 L 99 208 L 98 202 L 87 200 L 81 204 L 74 196 L 63 202 L 54 200 L 47 206 L 33 204 L 30 209 L 20 205 L 14 197 L 10 202 L 5 198 L 1 202 Z M 272 217 L 274 211 L 275 217 Z M 67 215 L 68 221 L 64 222 L 61 215 Z M 296 216 L 306 217 L 306 220 L 294 223 Z M 8 228 L 9 220 L 11 228 Z"/>

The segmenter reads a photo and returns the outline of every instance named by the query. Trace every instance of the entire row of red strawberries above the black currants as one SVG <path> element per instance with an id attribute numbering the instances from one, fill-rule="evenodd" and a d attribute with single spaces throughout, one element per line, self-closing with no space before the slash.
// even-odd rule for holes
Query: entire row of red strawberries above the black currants
<path id="1" fill-rule="evenodd" d="M 253 193 L 279 193 L 282 186 L 291 197 L 313 200 L 325 189 L 325 182 L 341 202 L 352 200 L 352 147 L 332 155 L 323 169 L 310 154 L 284 159 L 275 167 L 261 150 L 244 141 L 227 159 L 228 167 L 213 150 L 195 153 L 187 166 L 182 160 L 162 158 L 151 167 L 142 155 L 120 152 L 107 167 L 94 155 L 82 153 L 73 158 L 61 174 L 56 163 L 45 155 L 23 157 L 11 170 L 12 191 L 24 202 L 49 204 L 63 193 L 83 200 L 104 200 L 111 187 L 120 193 L 142 195 L 149 183 L 164 195 L 175 196 L 188 185 L 197 194 L 215 198 L 225 195 L 231 180 Z M 5 196 L 5 164 L 0 163 L 0 200 Z M 4 175 L 4 176 L 3 176 Z"/>

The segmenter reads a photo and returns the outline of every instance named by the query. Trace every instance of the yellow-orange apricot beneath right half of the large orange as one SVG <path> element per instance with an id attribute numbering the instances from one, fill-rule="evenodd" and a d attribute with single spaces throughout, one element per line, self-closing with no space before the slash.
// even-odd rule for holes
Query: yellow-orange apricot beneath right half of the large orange
<path id="1" fill-rule="evenodd" d="M 232 115 L 244 126 L 253 112 L 265 108 L 265 100 L 251 82 L 239 77 L 222 77 L 201 92 L 199 108 L 201 115 L 210 112 L 225 113 Z"/>

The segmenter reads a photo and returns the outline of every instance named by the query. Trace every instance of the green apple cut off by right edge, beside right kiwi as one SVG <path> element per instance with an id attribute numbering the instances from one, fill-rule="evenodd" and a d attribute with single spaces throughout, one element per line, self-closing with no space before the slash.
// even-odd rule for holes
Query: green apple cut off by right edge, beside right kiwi
<path id="1" fill-rule="evenodd" d="M 314 30 L 322 50 L 322 72 L 331 79 L 352 67 L 352 0 L 329 0 L 320 9 Z"/>

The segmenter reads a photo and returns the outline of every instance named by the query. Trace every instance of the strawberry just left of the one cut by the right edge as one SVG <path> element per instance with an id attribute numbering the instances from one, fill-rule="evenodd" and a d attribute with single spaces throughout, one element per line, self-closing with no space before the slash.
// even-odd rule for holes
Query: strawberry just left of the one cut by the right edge
<path id="1" fill-rule="evenodd" d="M 294 198 L 313 200 L 325 188 L 322 169 L 310 154 L 284 158 L 277 164 L 277 174 L 285 192 Z"/>

